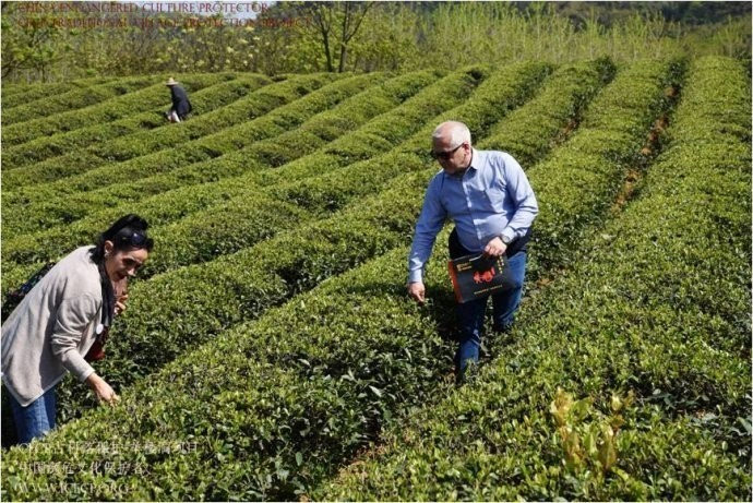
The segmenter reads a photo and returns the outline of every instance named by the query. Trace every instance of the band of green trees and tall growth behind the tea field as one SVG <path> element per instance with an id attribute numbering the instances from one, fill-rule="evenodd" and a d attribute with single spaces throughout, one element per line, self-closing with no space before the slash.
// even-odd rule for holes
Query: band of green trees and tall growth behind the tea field
<path id="1" fill-rule="evenodd" d="M 52 12 L 35 11 L 34 3 L 2 2 L 5 83 L 454 70 L 478 61 L 630 61 L 688 52 L 751 58 L 750 2 L 258 2 L 263 9 L 254 19 L 235 23 L 231 14 L 101 8 L 132 5 L 127 2 Z"/>

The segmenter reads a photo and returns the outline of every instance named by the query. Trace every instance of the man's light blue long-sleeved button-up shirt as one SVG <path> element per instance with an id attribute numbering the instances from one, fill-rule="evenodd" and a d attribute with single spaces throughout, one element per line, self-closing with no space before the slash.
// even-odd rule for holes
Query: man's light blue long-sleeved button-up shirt
<path id="1" fill-rule="evenodd" d="M 538 211 L 528 178 L 513 156 L 474 148 L 463 175 L 442 170 L 429 182 L 408 260 L 408 282 L 422 282 L 434 240 L 447 217 L 455 223 L 461 244 L 480 253 L 497 237 L 514 240 L 524 236 Z"/>

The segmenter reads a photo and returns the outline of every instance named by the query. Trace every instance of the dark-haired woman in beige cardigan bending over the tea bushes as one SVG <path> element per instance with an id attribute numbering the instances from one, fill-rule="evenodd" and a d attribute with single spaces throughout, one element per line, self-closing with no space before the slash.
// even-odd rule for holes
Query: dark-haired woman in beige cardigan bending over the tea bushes
<path id="1" fill-rule="evenodd" d="M 118 219 L 94 245 L 58 262 L 2 325 L 2 383 L 17 443 L 55 428 L 56 387 L 68 372 L 88 384 L 98 400 L 119 400 L 89 361 L 104 358 L 112 320 L 125 309 L 128 279 L 152 250 L 146 228 L 136 215 Z"/>

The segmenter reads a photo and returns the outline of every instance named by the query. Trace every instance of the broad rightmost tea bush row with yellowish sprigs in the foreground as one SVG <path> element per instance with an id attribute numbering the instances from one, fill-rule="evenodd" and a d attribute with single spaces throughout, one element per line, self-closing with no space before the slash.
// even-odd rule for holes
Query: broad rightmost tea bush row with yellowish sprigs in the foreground
<path id="1" fill-rule="evenodd" d="M 694 61 L 638 200 L 514 344 L 311 495 L 750 500 L 750 99 L 737 61 Z"/>

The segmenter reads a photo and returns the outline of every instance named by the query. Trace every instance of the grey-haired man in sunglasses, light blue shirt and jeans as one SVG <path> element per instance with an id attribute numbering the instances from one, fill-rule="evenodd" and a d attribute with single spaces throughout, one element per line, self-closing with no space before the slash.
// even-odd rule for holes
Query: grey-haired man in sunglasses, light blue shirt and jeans
<path id="1" fill-rule="evenodd" d="M 505 287 L 492 295 L 493 330 L 511 328 L 523 294 L 526 243 L 538 214 L 536 195 L 517 161 L 507 153 L 477 151 L 470 131 L 449 121 L 432 134 L 431 155 L 442 170 L 426 192 L 408 260 L 408 295 L 423 303 L 423 270 L 437 235 L 446 218 L 455 224 L 450 235 L 450 258 L 483 253 L 506 258 Z M 455 355 L 458 380 L 468 362 L 478 362 L 487 299 L 457 304 L 461 340 Z"/>

